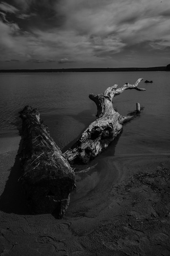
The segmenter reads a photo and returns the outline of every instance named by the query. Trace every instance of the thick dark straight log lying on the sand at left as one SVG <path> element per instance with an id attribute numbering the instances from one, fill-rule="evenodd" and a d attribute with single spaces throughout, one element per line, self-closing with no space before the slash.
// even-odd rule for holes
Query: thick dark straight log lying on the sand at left
<path id="1" fill-rule="evenodd" d="M 20 177 L 32 213 L 55 213 L 62 218 L 75 174 L 40 120 L 38 109 L 26 106 L 22 118 L 22 170 Z"/>

